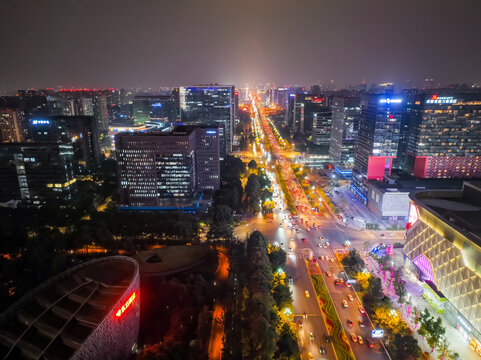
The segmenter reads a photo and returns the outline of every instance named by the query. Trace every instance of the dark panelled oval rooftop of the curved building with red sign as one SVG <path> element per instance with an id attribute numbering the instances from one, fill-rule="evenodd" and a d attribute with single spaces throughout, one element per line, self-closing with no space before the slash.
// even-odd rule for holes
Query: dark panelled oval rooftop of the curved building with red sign
<path id="1" fill-rule="evenodd" d="M 135 260 L 89 261 L 40 285 L 0 315 L 3 359 L 67 359 L 124 295 Z"/>

